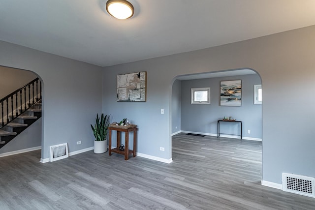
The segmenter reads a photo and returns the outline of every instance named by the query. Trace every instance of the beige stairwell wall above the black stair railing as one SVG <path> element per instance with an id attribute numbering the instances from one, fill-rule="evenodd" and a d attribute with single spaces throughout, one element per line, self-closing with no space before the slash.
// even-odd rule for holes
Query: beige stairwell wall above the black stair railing
<path id="1" fill-rule="evenodd" d="M 37 77 L 32 71 L 0 66 L 0 99 Z"/>

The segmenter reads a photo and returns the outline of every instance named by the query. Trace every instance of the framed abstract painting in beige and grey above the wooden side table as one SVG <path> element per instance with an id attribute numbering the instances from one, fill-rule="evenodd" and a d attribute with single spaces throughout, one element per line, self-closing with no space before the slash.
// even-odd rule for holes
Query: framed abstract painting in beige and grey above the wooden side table
<path id="1" fill-rule="evenodd" d="M 147 72 L 117 75 L 117 101 L 147 101 Z"/>

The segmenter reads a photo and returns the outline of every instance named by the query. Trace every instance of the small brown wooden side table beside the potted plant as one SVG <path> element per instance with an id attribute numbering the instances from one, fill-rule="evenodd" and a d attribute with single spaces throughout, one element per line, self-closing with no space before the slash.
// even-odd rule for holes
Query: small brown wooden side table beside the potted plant
<path id="1" fill-rule="evenodd" d="M 133 154 L 133 157 L 136 156 L 136 147 L 137 147 L 137 125 L 129 124 L 127 126 L 121 126 L 116 124 L 110 124 L 108 127 L 109 130 L 109 151 L 108 154 L 112 155 L 112 152 L 118 154 L 124 154 L 125 160 L 129 159 L 129 154 Z M 112 130 L 117 131 L 117 147 L 112 149 Z M 129 132 L 133 131 L 133 150 L 129 150 Z M 121 145 L 121 132 L 125 132 L 125 150 L 119 150 Z"/>

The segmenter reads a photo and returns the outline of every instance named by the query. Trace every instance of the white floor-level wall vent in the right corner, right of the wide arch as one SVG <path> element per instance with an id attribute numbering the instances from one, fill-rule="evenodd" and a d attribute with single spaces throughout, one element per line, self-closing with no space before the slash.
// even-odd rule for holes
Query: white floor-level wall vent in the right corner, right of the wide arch
<path id="1" fill-rule="evenodd" d="M 315 198 L 315 178 L 282 173 L 282 190 Z"/>

